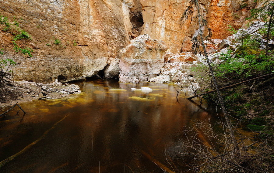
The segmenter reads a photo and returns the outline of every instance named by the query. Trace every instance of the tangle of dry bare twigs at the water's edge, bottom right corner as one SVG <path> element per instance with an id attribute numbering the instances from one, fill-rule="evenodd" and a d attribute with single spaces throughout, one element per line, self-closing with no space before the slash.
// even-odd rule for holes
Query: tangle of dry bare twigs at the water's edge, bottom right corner
<path id="1" fill-rule="evenodd" d="M 193 162 L 185 172 L 269 172 L 274 168 L 272 135 L 245 137 L 236 130 L 239 155 L 234 154 L 230 133 L 220 133 L 218 130 L 220 127 L 226 129 L 226 126 L 223 123 L 212 125 L 206 121 L 197 121 L 184 130 L 181 154 Z"/>

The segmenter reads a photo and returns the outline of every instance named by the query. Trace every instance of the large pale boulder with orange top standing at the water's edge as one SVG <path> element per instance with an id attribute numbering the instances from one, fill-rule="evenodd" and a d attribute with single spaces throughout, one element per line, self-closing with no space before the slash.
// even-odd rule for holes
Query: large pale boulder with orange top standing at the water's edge
<path id="1" fill-rule="evenodd" d="M 140 82 L 155 77 L 164 66 L 166 50 L 164 42 L 151 39 L 147 34 L 132 39 L 122 50 L 120 81 Z"/>

